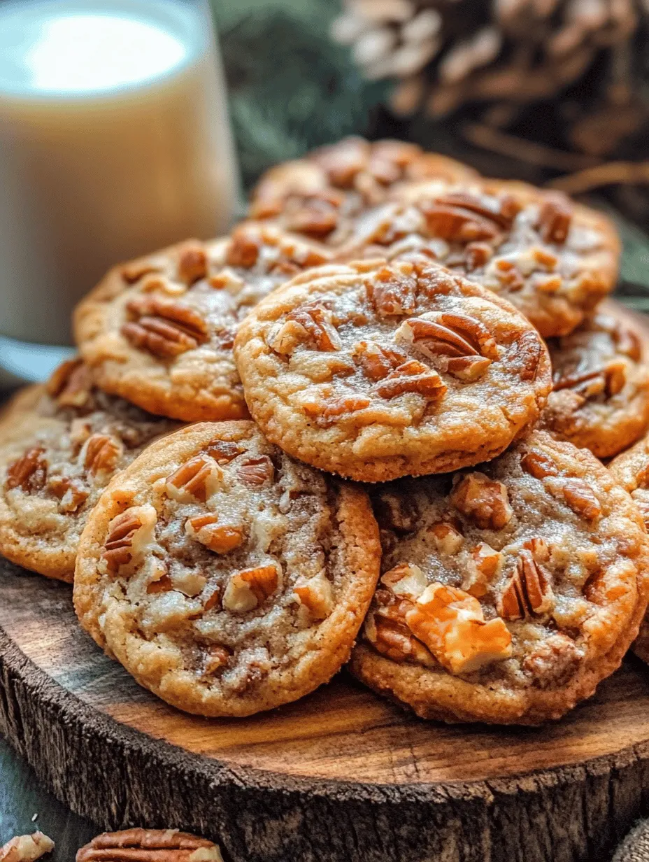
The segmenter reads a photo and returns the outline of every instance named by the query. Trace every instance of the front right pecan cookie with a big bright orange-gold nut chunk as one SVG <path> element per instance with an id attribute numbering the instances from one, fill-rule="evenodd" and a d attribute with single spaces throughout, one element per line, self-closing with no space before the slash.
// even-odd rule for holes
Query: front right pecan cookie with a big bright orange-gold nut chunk
<path id="1" fill-rule="evenodd" d="M 649 539 L 586 449 L 534 431 L 479 470 L 378 489 L 384 572 L 352 671 L 441 721 L 537 724 L 621 663 Z"/>

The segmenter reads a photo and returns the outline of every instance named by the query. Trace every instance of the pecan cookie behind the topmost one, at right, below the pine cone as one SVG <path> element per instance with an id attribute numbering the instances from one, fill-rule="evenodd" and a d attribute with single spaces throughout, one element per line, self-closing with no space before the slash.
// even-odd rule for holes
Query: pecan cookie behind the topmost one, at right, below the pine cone
<path id="1" fill-rule="evenodd" d="M 606 216 L 554 191 L 481 179 L 406 184 L 359 216 L 340 253 L 427 253 L 509 299 L 545 336 L 570 333 L 615 286 Z"/>

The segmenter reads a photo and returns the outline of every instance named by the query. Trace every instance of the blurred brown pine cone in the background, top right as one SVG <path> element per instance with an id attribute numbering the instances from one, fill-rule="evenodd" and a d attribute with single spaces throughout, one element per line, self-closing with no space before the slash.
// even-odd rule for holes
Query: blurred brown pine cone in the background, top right
<path id="1" fill-rule="evenodd" d="M 478 104 L 484 122 L 510 128 L 530 104 L 583 83 L 562 106 L 562 133 L 567 128 L 569 146 L 595 156 L 615 151 L 649 116 L 637 86 L 647 0 L 344 5 L 334 39 L 352 47 L 367 78 L 396 78 L 391 107 L 398 115 L 441 117 Z"/>

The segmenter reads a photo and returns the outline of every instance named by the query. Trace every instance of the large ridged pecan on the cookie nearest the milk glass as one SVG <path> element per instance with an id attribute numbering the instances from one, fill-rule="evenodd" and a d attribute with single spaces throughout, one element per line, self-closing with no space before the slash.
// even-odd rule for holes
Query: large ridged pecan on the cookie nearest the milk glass
<path id="1" fill-rule="evenodd" d="M 158 297 L 134 297 L 126 307 L 134 320 L 124 323 L 122 335 L 159 359 L 178 356 L 208 340 L 203 317 L 189 306 Z"/>

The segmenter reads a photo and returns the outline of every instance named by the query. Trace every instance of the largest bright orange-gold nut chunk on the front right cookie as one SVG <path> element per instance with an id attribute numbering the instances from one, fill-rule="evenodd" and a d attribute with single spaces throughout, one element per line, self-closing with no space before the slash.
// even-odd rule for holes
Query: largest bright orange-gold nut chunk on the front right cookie
<path id="1" fill-rule="evenodd" d="M 451 673 L 471 673 L 509 659 L 511 634 L 501 619 L 485 622 L 477 598 L 446 584 L 430 584 L 405 620 L 410 631 Z"/>

